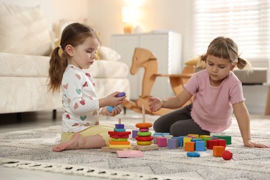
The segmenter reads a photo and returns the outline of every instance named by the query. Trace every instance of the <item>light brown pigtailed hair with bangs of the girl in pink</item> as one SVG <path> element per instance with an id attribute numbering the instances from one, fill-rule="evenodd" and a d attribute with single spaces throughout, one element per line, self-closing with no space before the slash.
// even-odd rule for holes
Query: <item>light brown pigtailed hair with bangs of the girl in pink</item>
<path id="1" fill-rule="evenodd" d="M 238 69 L 246 69 L 252 71 L 251 63 L 238 54 L 238 46 L 233 39 L 228 37 L 217 37 L 210 42 L 206 54 L 200 56 L 197 66 L 200 69 L 206 68 L 206 59 L 208 55 L 213 55 L 225 60 L 229 60 L 231 64 L 237 66 Z"/>

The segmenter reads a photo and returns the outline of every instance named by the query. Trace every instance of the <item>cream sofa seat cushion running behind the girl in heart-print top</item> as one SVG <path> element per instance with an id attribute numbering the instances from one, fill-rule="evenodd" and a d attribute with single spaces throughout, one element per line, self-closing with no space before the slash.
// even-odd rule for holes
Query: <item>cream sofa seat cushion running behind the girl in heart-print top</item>
<path id="1" fill-rule="evenodd" d="M 0 76 L 48 77 L 50 57 L 0 53 Z M 89 69 L 93 78 L 127 78 L 129 68 L 124 62 L 96 60 Z"/>

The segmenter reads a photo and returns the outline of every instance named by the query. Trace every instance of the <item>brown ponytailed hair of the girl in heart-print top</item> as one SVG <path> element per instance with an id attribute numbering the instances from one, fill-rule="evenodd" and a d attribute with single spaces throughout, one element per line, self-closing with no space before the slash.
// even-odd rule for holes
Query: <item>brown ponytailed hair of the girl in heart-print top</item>
<path id="1" fill-rule="evenodd" d="M 100 38 L 98 37 L 96 30 L 93 30 L 93 28 L 87 25 L 73 23 L 69 24 L 69 26 L 66 26 L 66 28 L 64 28 L 61 36 L 60 45 L 53 50 L 51 60 L 49 62 L 49 91 L 53 93 L 60 91 L 63 74 L 68 64 L 68 57 L 70 57 L 69 54 L 65 51 L 66 45 L 70 44 L 73 47 L 78 46 L 84 43 L 87 37 L 96 38 L 98 39 L 98 42 L 100 42 Z M 63 51 L 61 55 L 59 54 L 60 48 L 62 48 Z"/>

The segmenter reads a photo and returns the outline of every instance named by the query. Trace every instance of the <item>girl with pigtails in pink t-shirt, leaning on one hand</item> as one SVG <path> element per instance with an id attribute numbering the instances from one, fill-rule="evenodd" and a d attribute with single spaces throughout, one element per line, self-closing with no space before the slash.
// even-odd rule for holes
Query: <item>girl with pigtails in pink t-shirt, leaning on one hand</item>
<path id="1" fill-rule="evenodd" d="M 186 107 L 161 116 L 154 122 L 155 132 L 170 132 L 172 136 L 223 132 L 231 125 L 235 114 L 243 143 L 247 147 L 269 147 L 251 141 L 249 111 L 244 104 L 242 84 L 232 72 L 235 66 L 250 69 L 250 64 L 238 55 L 238 47 L 230 38 L 217 37 L 210 42 L 205 55 L 201 55 L 201 68 L 177 96 L 161 100 L 149 98 L 151 111 Z"/>

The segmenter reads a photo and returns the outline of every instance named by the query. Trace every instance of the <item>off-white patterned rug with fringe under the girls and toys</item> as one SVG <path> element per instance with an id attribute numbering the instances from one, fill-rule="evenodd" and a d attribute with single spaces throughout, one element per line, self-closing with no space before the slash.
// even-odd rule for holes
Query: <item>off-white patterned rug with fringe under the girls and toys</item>
<path id="1" fill-rule="evenodd" d="M 146 115 L 146 121 L 154 122 L 157 117 Z M 142 119 L 128 115 L 120 118 L 129 131 Z M 104 117 L 100 123 L 114 125 L 118 118 Z M 269 117 L 253 116 L 253 140 L 270 145 L 269 127 Z M 232 145 L 226 147 L 233 152 L 231 161 L 213 156 L 212 150 L 190 158 L 183 147 L 145 151 L 141 158 L 118 158 L 100 149 L 52 152 L 52 147 L 60 143 L 60 132 L 61 127 L 55 126 L 0 134 L 0 164 L 107 179 L 270 179 L 270 149 L 244 147 L 236 120 L 224 132 L 232 136 Z M 129 141 L 136 142 L 132 138 Z"/>

